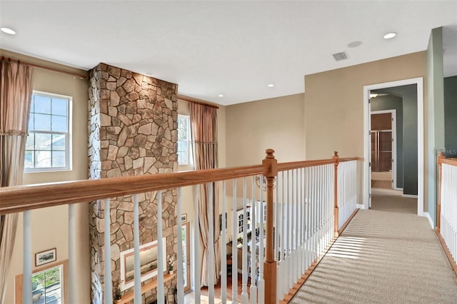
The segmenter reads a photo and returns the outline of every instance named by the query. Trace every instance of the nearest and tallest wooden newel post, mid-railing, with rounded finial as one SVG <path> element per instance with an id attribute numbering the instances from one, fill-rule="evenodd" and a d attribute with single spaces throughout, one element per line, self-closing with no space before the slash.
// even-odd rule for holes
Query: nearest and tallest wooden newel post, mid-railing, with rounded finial
<path id="1" fill-rule="evenodd" d="M 266 247 L 263 262 L 263 278 L 265 280 L 265 303 L 276 303 L 276 260 L 273 249 L 273 185 L 274 178 L 278 175 L 278 161 L 274 158 L 273 149 L 266 149 L 266 157 L 262 164 L 268 165 L 266 178 Z"/>

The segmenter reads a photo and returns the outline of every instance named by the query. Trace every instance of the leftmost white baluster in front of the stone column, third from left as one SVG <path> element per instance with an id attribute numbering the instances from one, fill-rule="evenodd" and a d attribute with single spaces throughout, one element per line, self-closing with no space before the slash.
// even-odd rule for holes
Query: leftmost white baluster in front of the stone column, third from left
<path id="1" fill-rule="evenodd" d="M 111 201 L 109 198 L 104 199 L 104 208 L 105 208 L 105 231 L 104 231 L 104 241 L 105 241 L 105 273 L 104 273 L 104 282 L 105 282 L 105 304 L 113 303 L 113 282 L 111 279 Z"/>

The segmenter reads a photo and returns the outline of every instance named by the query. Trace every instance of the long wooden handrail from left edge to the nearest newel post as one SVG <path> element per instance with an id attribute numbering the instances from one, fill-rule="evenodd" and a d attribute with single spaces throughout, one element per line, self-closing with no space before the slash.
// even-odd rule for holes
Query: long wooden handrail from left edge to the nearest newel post
<path id="1" fill-rule="evenodd" d="M 0 188 L 0 214 L 199 185 L 268 173 L 267 165 Z"/>

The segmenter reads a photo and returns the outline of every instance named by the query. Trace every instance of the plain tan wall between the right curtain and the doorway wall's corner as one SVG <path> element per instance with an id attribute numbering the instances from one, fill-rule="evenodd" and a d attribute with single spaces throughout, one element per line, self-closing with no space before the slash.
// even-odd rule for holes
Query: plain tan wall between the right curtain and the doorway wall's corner
<path id="1" fill-rule="evenodd" d="M 273 148 L 279 162 L 304 158 L 303 93 L 226 107 L 227 166 L 260 164 Z"/>

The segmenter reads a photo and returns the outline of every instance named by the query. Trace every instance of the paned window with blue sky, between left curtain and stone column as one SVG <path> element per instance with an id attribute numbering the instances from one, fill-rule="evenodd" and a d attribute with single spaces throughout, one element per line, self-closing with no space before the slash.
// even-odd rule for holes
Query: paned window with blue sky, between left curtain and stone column
<path id="1" fill-rule="evenodd" d="M 70 169 L 70 106 L 69 96 L 34 91 L 24 171 Z"/>

